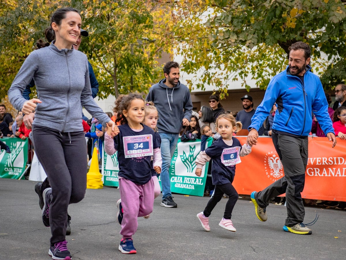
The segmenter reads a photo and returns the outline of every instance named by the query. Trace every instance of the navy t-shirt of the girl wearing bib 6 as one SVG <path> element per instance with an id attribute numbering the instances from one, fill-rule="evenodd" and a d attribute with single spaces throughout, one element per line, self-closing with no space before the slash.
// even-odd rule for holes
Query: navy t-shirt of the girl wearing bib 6
<path id="1" fill-rule="evenodd" d="M 212 143 L 206 150 L 206 154 L 212 160 L 211 166 L 211 179 L 213 185 L 222 185 L 225 183 L 232 183 L 234 180 L 234 175 L 236 171 L 236 165 L 226 166 L 221 162 L 221 154 L 224 149 L 228 149 L 230 147 L 239 147 L 239 152 L 242 150 L 242 145 L 239 140 L 235 137 L 232 137 L 233 144 L 229 146 L 225 144 L 222 138 L 219 138 L 215 142 Z"/>

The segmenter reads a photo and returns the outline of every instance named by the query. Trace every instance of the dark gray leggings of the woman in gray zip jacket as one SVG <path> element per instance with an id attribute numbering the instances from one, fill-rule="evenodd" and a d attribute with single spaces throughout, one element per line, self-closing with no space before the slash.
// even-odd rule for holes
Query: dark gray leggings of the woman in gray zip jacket
<path id="1" fill-rule="evenodd" d="M 67 207 L 84 198 L 86 190 L 86 142 L 84 133 L 59 132 L 33 125 L 37 158 L 52 187 L 49 204 L 51 245 L 65 240 Z"/>

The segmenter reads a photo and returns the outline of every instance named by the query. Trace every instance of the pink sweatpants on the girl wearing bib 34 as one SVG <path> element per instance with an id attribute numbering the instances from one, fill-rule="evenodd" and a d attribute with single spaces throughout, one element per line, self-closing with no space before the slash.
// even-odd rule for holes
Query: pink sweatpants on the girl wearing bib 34
<path id="1" fill-rule="evenodd" d="M 121 222 L 120 234 L 123 239 L 132 238 L 137 231 L 137 217 L 143 217 L 153 212 L 154 181 L 150 179 L 144 185 L 121 178 L 119 179 L 121 206 L 124 216 Z"/>

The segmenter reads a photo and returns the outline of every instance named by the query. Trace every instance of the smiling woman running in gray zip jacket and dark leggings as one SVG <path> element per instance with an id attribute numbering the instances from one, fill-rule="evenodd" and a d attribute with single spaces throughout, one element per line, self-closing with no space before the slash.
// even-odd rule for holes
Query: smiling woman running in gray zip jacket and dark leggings
<path id="1" fill-rule="evenodd" d="M 49 255 L 71 259 L 67 249 L 67 207 L 84 198 L 86 190 L 86 143 L 81 119 L 81 104 L 106 126 L 115 124 L 91 96 L 88 60 L 72 44 L 80 35 L 81 17 L 74 8 L 54 12 L 51 26 L 56 40 L 33 51 L 24 61 L 8 91 L 12 105 L 24 114 L 35 112 L 34 148 L 52 188 L 43 192 L 43 223 L 51 227 Z M 39 99 L 22 97 L 34 79 Z"/>

